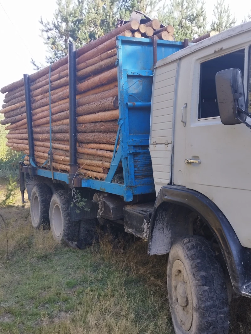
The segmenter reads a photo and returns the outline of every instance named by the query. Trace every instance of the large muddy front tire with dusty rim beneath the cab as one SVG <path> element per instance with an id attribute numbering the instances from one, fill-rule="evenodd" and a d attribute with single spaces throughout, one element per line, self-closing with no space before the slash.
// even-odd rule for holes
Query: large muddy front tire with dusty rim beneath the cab
<path id="1" fill-rule="evenodd" d="M 210 242 L 196 235 L 174 242 L 167 288 L 176 334 L 228 334 L 227 287 Z"/>

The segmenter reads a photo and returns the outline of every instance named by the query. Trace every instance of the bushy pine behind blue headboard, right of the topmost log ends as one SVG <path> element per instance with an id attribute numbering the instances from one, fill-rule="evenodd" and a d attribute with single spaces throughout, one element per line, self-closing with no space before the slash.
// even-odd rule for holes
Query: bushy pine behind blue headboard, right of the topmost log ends
<path id="1" fill-rule="evenodd" d="M 204 0 L 171 0 L 170 5 L 165 3 L 159 10 L 158 18 L 174 27 L 175 40 L 192 40 L 207 32 L 204 5 Z"/>

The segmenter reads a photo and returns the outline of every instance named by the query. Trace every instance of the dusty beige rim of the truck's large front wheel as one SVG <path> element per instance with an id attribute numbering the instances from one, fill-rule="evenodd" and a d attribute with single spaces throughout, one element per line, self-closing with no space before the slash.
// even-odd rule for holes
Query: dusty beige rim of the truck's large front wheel
<path id="1" fill-rule="evenodd" d="M 193 319 L 192 292 L 183 262 L 176 260 L 172 268 L 172 297 L 180 326 L 189 331 Z"/>

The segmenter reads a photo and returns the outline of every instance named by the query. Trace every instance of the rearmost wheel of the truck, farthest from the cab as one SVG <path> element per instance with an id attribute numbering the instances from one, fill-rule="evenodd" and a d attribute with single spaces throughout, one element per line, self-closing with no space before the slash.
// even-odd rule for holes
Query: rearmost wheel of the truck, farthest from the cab
<path id="1" fill-rule="evenodd" d="M 30 194 L 30 217 L 34 228 L 49 228 L 49 208 L 52 198 L 50 187 L 45 183 L 36 184 Z"/>

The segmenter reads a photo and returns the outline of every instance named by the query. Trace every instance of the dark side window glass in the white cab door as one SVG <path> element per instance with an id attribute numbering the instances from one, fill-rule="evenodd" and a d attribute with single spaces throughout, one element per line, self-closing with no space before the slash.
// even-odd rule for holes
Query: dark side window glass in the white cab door
<path id="1" fill-rule="evenodd" d="M 219 71 L 234 67 L 239 68 L 243 75 L 244 57 L 245 50 L 242 49 L 207 60 L 200 64 L 199 119 L 220 116 L 216 95 L 215 75 Z M 251 92 L 250 80 L 249 86 Z"/>

